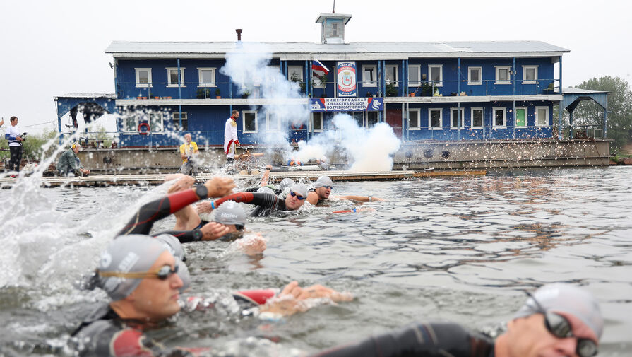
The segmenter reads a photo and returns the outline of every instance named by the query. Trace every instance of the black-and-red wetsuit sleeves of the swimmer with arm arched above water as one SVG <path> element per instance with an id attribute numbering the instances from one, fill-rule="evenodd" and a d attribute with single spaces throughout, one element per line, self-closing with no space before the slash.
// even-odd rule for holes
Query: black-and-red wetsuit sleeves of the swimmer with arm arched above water
<path id="1" fill-rule="evenodd" d="M 136 215 L 126 224 L 118 235 L 128 234 L 145 234 L 148 235 L 155 221 L 169 216 L 177 212 L 193 202 L 205 199 L 208 196 L 208 190 L 204 185 L 196 186 L 195 191 L 187 189 L 186 191 L 169 194 L 148 204 L 144 204 L 138 209 Z M 202 239 L 202 232 L 199 230 L 201 226 L 194 230 L 167 230 L 165 232 L 155 233 L 170 234 L 178 238 L 181 243 L 197 242 Z"/>

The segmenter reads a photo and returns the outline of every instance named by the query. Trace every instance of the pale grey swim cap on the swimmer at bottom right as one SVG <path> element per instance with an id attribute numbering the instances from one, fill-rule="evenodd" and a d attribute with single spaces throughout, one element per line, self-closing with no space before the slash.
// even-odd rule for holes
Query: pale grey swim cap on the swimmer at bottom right
<path id="1" fill-rule="evenodd" d="M 542 286 L 532 293 L 514 318 L 527 317 L 537 313 L 559 312 L 572 315 L 580 320 L 595 334 L 597 341 L 604 330 L 604 319 L 597 299 L 590 292 L 565 283 L 552 283 Z"/>

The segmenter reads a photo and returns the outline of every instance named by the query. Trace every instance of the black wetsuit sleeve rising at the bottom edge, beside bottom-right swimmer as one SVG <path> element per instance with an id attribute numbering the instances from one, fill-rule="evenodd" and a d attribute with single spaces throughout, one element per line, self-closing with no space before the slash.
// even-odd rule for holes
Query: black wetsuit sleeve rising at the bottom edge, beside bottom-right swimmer
<path id="1" fill-rule="evenodd" d="M 415 324 L 312 357 L 494 357 L 494 341 L 459 324 Z"/>

